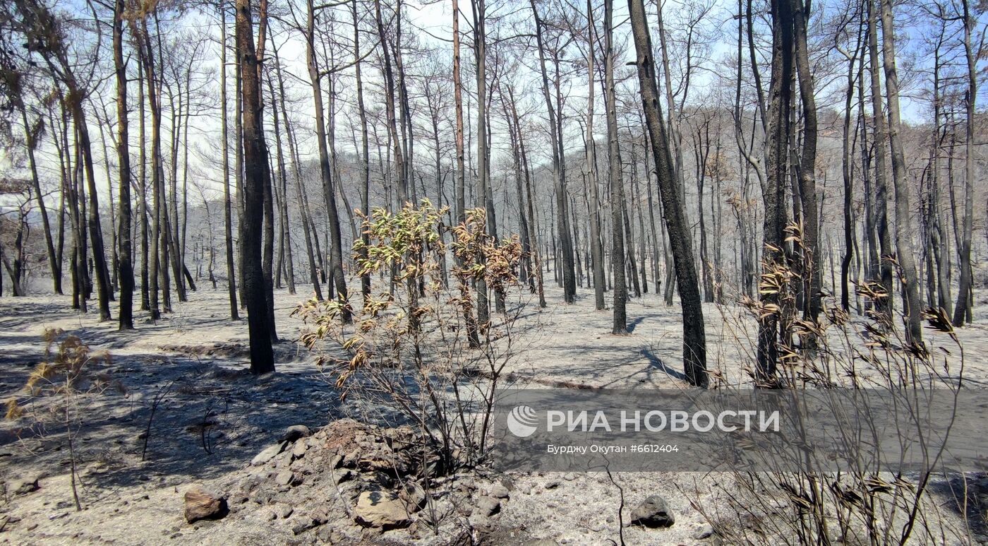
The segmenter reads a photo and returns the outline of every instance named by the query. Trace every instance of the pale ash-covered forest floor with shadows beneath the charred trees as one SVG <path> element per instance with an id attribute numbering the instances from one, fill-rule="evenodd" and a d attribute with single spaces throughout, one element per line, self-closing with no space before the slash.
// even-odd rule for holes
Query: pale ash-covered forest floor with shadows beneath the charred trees
<path id="1" fill-rule="evenodd" d="M 549 305 L 541 311 L 526 300 L 513 340 L 516 358 L 506 370 L 514 387 L 686 385 L 678 305 L 667 307 L 652 294 L 634 299 L 627 310 L 631 334 L 615 336 L 611 313 L 594 311 L 592 293 L 581 291 L 571 306 L 559 303 L 560 296 L 554 287 L 547 289 Z M 332 382 L 297 343 L 302 324 L 289 314 L 304 298 L 276 291 L 278 330 L 285 341 L 276 345 L 278 372 L 262 377 L 247 371 L 246 321 L 227 318 L 223 290 L 191 293 L 191 301 L 177 304 L 174 313 L 156 323 L 141 320 L 129 332 L 118 331 L 116 322 L 99 322 L 94 313 L 75 313 L 67 297 L 0 300 L 0 397 L 17 397 L 26 412 L 0 425 L 0 482 L 5 484 L 0 543 L 445 544 L 485 538 L 493 544 L 535 545 L 619 543 L 621 535 L 628 544 L 709 543 L 706 519 L 696 504 L 721 505 L 726 495 L 715 487 L 721 477 L 710 474 L 472 477 L 454 494 L 473 504 L 478 498 L 497 498 L 498 515 L 477 516 L 475 507 L 464 510 L 453 503 L 449 519 L 459 523 L 437 525 L 439 534 L 425 524 L 384 533 L 358 526 L 348 504 L 358 492 L 348 484 L 359 480 L 321 478 L 319 465 L 325 462 L 298 454 L 336 441 L 335 432 L 298 440 L 295 455 L 288 454 L 293 447 L 282 444 L 284 454 L 270 461 L 255 458 L 277 445 L 288 426 L 317 430 L 348 414 Z M 967 381 L 984 388 L 988 303 L 980 293 L 978 300 L 975 323 L 958 333 L 972 355 Z M 733 306 L 706 305 L 704 317 L 709 367 L 742 383 L 753 322 Z M 110 388 L 26 399 L 24 385 L 45 358 L 45 328 L 78 336 L 94 353 L 107 351 L 110 358 L 99 373 Z M 946 335 L 930 335 L 934 346 L 947 345 Z M 64 420 L 66 407 L 79 416 L 71 444 L 58 420 Z M 303 468 L 303 462 L 309 466 Z M 73 466 L 81 511 L 73 502 Z M 289 483 L 282 483 L 286 469 L 295 474 L 289 472 Z M 195 484 L 223 493 L 229 515 L 187 523 L 183 496 Z M 495 493 L 502 485 L 510 494 Z M 669 502 L 676 523 L 657 530 L 622 528 L 630 509 L 651 495 Z M 946 517 L 960 524 L 959 516 Z M 947 543 L 963 544 L 964 539 Z"/>

